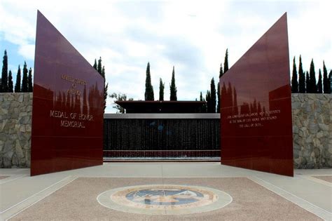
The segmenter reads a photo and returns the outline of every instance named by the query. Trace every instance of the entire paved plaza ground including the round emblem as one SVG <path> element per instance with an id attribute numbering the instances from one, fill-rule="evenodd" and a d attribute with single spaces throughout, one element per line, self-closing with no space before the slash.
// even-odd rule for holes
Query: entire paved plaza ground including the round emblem
<path id="1" fill-rule="evenodd" d="M 331 169 L 294 177 L 220 163 L 0 169 L 1 220 L 331 220 Z"/>

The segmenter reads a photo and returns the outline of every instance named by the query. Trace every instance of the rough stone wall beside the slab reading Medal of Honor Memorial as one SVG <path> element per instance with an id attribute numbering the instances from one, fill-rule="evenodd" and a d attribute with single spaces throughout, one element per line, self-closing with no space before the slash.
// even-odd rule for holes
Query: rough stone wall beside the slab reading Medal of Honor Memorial
<path id="1" fill-rule="evenodd" d="M 32 93 L 0 93 L 0 168 L 29 168 Z"/>

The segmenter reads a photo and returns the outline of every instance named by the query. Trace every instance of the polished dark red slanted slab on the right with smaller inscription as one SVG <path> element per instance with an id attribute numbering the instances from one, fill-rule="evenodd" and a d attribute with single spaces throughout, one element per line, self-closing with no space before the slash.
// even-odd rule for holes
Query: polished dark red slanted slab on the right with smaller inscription
<path id="1" fill-rule="evenodd" d="M 221 163 L 293 176 L 286 13 L 220 79 Z"/>

